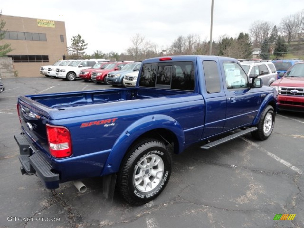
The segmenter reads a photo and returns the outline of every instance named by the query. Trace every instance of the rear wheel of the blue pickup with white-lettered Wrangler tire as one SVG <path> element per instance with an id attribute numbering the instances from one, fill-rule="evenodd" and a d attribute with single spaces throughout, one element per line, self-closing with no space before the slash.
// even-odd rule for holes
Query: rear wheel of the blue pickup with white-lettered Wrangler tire
<path id="1" fill-rule="evenodd" d="M 119 190 L 127 202 L 141 205 L 164 190 L 171 175 L 170 151 L 156 139 L 141 140 L 128 151 L 118 174 Z"/>

